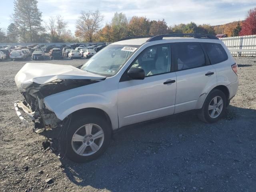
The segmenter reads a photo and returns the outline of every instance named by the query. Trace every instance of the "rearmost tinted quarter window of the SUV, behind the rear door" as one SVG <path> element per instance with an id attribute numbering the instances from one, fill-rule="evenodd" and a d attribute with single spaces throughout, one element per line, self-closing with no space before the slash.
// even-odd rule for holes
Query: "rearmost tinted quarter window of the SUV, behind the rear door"
<path id="1" fill-rule="evenodd" d="M 220 63 L 228 59 L 228 55 L 221 44 L 204 43 L 204 48 L 210 58 L 211 64 Z"/>

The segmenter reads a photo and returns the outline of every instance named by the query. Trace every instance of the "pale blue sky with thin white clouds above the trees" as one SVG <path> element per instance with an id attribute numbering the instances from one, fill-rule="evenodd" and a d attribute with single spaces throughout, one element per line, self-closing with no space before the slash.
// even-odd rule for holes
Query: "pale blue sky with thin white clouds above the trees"
<path id="1" fill-rule="evenodd" d="M 0 6 L 0 28 L 6 30 L 12 22 L 13 0 Z M 102 27 L 111 22 L 115 12 L 123 12 L 128 19 L 146 16 L 150 20 L 165 19 L 168 26 L 180 23 L 220 25 L 244 20 L 248 10 L 256 7 L 256 0 L 38 0 L 42 19 L 61 15 L 68 29 L 76 30 L 81 11 L 99 10 L 104 15 Z M 44 23 L 43 23 L 44 24 Z"/>

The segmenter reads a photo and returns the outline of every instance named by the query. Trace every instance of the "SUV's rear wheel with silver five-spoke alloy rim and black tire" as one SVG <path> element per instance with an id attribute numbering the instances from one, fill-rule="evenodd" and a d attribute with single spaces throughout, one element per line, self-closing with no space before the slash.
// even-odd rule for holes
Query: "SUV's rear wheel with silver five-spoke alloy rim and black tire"
<path id="1" fill-rule="evenodd" d="M 226 106 L 226 95 L 221 90 L 214 89 L 206 97 L 202 109 L 198 112 L 198 118 L 206 123 L 217 122 L 224 115 Z"/>

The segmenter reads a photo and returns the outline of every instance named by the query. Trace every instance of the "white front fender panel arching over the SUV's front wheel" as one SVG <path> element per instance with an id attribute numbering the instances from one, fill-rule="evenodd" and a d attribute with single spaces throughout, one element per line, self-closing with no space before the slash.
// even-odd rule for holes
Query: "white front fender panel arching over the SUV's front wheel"
<path id="1" fill-rule="evenodd" d="M 103 91 L 101 94 L 96 94 L 92 93 L 90 89 L 85 89 L 85 87 L 87 86 L 74 88 L 71 90 L 47 96 L 44 98 L 44 104 L 46 108 L 54 112 L 60 120 L 64 120 L 64 118 L 66 118 L 68 115 L 80 109 L 101 109 L 106 112 L 106 114 L 108 114 L 112 124 L 112 128 L 117 129 L 117 92 Z M 98 88 L 100 89 L 100 86 L 98 86 Z"/>

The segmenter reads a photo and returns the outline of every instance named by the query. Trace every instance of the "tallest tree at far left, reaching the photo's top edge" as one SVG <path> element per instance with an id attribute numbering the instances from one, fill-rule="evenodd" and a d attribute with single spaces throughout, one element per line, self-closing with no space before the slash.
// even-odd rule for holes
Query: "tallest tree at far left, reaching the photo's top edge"
<path id="1" fill-rule="evenodd" d="M 37 3 L 37 0 L 14 0 L 12 19 L 24 41 L 27 32 L 30 42 L 33 42 L 33 34 L 44 30 L 41 26 L 42 12 L 38 10 Z"/>

